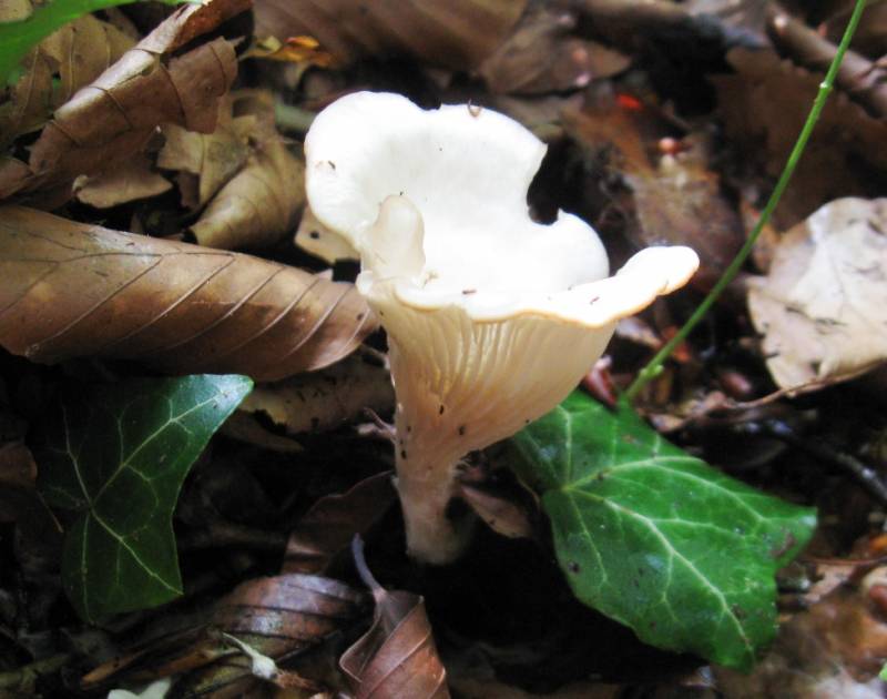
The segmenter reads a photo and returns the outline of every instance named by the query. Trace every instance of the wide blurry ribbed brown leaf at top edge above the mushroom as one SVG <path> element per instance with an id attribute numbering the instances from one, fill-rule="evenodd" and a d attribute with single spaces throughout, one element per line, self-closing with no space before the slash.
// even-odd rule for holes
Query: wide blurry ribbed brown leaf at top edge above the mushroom
<path id="1" fill-rule="evenodd" d="M 310 36 L 340 63 L 364 55 L 410 54 L 470 69 L 509 34 L 527 0 L 257 0 L 256 34 Z"/>

